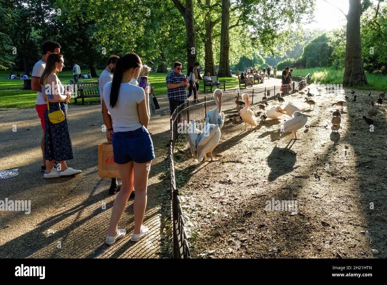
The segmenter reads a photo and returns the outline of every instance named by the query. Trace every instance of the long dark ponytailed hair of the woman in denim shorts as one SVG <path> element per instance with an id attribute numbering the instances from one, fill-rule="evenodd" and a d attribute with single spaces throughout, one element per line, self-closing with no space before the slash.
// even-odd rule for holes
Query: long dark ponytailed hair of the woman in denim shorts
<path id="1" fill-rule="evenodd" d="M 118 100 L 122 74 L 131 68 L 141 68 L 142 61 L 137 54 L 125 54 L 117 60 L 110 89 L 110 107 L 114 108 Z"/>

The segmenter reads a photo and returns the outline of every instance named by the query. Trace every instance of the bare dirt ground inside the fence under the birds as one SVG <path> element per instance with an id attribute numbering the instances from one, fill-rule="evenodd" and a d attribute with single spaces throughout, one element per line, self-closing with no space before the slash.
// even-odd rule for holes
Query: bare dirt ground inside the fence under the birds
<path id="1" fill-rule="evenodd" d="M 286 115 L 253 131 L 226 121 L 213 152 L 219 161 L 195 164 L 187 136 L 180 137 L 176 187 L 192 257 L 387 257 L 387 113 L 377 107 L 371 132 L 362 117 L 380 92 L 355 91 L 353 102 L 350 90 L 319 95 L 311 85 L 314 110 L 301 96 L 285 96 L 313 116 L 298 141 L 279 136 Z M 331 104 L 344 96 L 341 129 L 332 131 Z M 273 199 L 296 201 L 297 209 L 265 209 Z"/>

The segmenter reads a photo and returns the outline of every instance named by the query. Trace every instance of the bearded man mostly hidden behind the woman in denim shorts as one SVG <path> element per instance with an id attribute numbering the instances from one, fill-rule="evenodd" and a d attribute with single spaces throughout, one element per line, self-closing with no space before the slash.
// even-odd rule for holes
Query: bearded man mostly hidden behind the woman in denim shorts
<path id="1" fill-rule="evenodd" d="M 104 94 L 104 86 L 106 83 L 111 82 L 113 80 L 113 73 L 116 66 L 116 62 L 120 57 L 118 55 L 110 55 L 108 58 L 108 63 L 106 65 L 106 68 L 102 71 L 101 75 L 98 79 L 98 85 L 99 85 L 99 96 L 101 98 L 101 111 L 102 111 L 102 117 L 103 122 L 106 126 L 106 139 L 108 140 L 108 143 L 112 143 L 112 137 L 113 137 L 113 121 L 111 120 L 110 113 L 108 109 L 106 108 L 105 101 L 103 99 Z M 111 183 L 109 187 L 109 194 L 113 195 L 114 193 L 118 193 L 121 190 L 120 185 L 118 185 L 117 178 L 111 178 Z M 130 197 L 134 197 L 134 191 L 130 195 Z"/>

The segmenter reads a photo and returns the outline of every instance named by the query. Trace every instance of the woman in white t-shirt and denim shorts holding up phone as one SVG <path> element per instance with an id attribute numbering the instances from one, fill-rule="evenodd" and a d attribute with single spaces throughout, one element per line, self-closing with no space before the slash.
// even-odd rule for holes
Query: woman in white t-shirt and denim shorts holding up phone
<path id="1" fill-rule="evenodd" d="M 137 54 L 125 54 L 117 60 L 113 81 L 104 85 L 103 98 L 113 121 L 113 159 L 117 165 L 122 187 L 113 204 L 106 244 L 111 245 L 126 234 L 118 229 L 118 221 L 135 188 L 134 232 L 130 240 L 137 242 L 149 230 L 142 225 L 147 201 L 149 168 L 154 159 L 151 136 L 144 127 L 149 123 L 149 98 L 135 85 L 142 69 Z M 134 84 L 134 85 L 133 85 Z"/>

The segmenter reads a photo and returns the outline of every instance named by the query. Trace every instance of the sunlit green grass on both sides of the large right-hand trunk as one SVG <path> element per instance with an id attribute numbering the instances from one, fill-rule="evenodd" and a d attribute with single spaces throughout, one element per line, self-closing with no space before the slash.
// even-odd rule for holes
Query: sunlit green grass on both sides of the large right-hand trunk
<path id="1" fill-rule="evenodd" d="M 307 76 L 310 73 L 312 76 L 312 83 L 317 84 L 342 84 L 344 77 L 344 68 L 335 67 L 315 67 L 306 69 L 295 69 L 293 75 L 295 76 Z M 385 90 L 387 86 L 387 76 L 380 74 L 366 73 L 368 80 L 368 86 L 361 86 L 359 89 L 363 90 Z"/>

